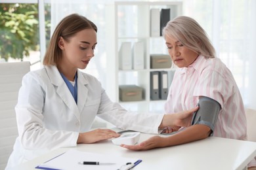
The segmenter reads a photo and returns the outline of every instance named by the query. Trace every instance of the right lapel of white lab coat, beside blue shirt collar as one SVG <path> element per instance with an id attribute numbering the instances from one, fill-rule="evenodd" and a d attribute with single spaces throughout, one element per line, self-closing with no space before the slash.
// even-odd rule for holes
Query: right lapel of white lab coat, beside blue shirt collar
<path id="1" fill-rule="evenodd" d="M 77 71 L 77 107 L 79 112 L 83 110 L 87 101 L 87 84 L 87 78 L 85 78 L 80 71 Z"/>

